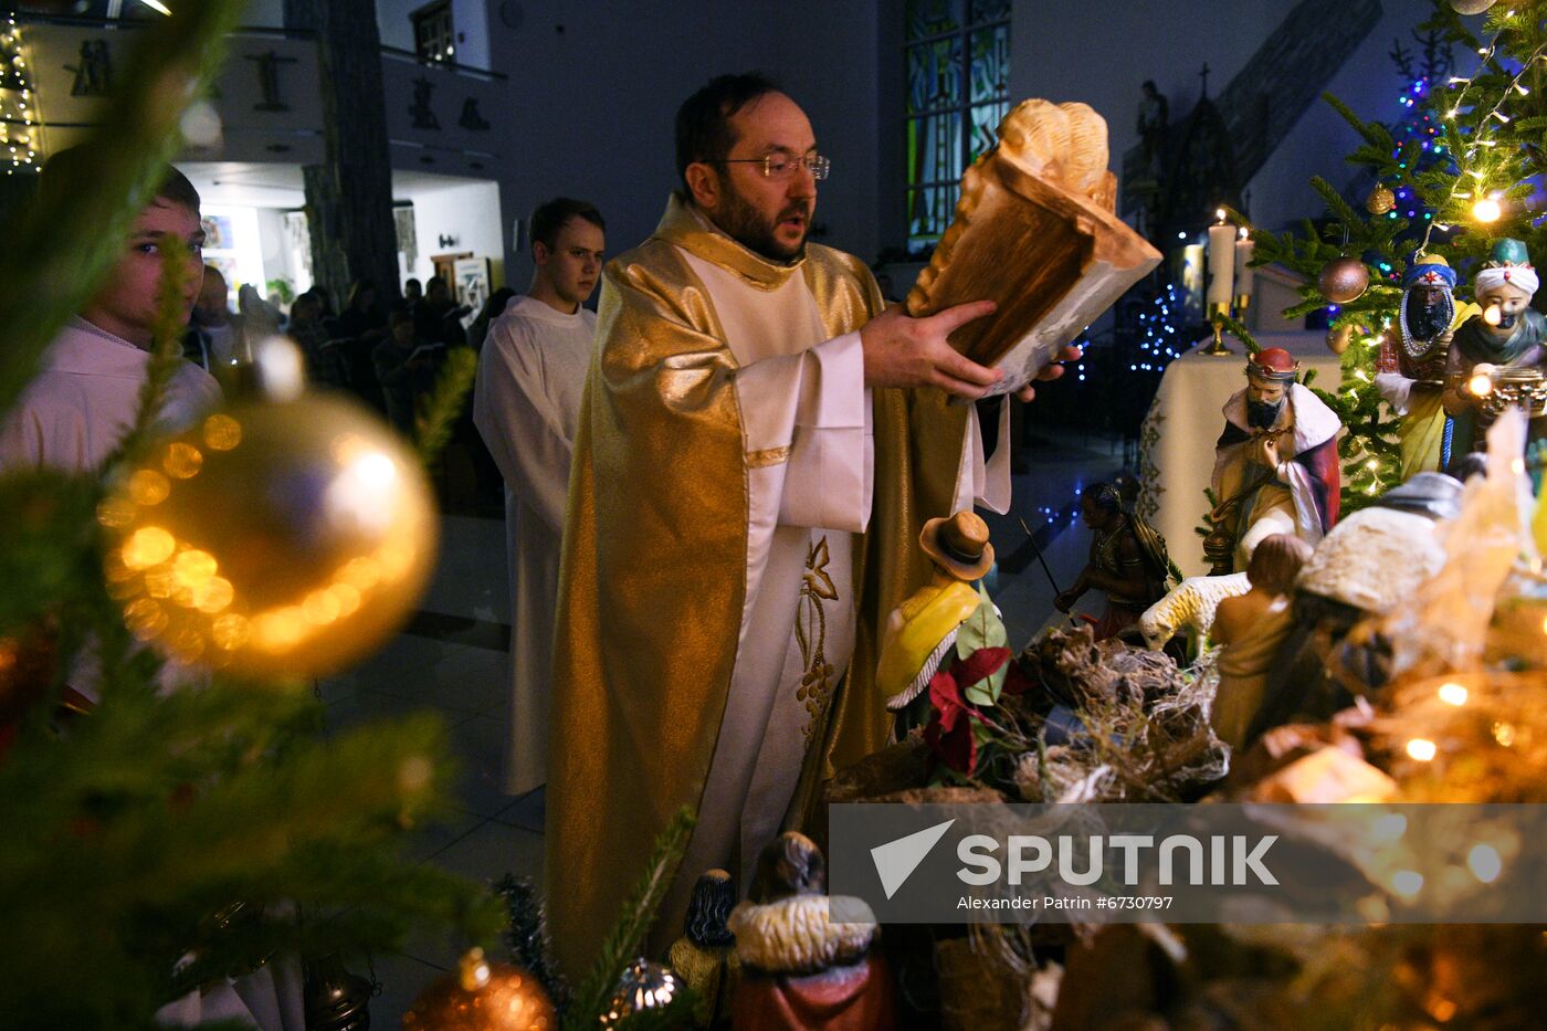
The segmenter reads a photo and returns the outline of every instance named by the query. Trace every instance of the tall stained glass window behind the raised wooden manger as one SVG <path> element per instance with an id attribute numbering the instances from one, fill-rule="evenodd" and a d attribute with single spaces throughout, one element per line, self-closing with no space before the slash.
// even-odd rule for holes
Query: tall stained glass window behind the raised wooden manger
<path id="1" fill-rule="evenodd" d="M 907 0 L 908 251 L 951 224 L 962 170 L 1009 110 L 1010 0 Z"/>

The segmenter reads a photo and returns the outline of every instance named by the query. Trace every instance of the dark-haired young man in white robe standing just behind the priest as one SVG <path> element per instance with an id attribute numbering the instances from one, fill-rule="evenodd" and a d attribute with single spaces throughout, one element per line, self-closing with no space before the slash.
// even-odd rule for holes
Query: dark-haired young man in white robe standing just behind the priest
<path id="1" fill-rule="evenodd" d="M 532 212 L 532 288 L 489 325 L 473 385 L 473 424 L 504 477 L 511 570 L 511 714 L 503 786 L 548 780 L 548 698 L 565 498 L 602 276 L 600 212 L 560 197 Z"/>

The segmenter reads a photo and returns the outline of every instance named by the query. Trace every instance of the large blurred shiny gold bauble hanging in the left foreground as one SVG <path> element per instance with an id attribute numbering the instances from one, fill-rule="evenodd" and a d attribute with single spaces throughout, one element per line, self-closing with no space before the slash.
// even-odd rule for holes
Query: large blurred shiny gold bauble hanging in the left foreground
<path id="1" fill-rule="evenodd" d="M 257 678 L 325 676 L 371 653 L 418 602 L 438 536 L 413 452 L 325 395 L 238 402 L 161 440 L 97 520 L 136 636 Z"/>

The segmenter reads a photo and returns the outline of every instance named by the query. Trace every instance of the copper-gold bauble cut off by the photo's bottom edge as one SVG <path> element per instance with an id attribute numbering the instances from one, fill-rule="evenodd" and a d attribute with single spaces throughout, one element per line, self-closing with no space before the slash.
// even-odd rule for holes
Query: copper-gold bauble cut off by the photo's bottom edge
<path id="1" fill-rule="evenodd" d="M 554 1031 L 558 1014 L 535 977 L 470 949 L 452 974 L 430 981 L 402 1016 L 422 1031 Z"/>

